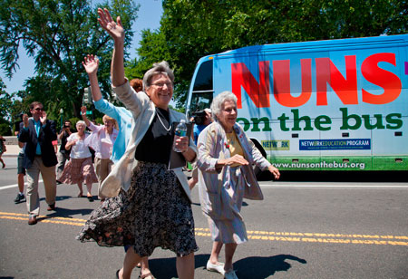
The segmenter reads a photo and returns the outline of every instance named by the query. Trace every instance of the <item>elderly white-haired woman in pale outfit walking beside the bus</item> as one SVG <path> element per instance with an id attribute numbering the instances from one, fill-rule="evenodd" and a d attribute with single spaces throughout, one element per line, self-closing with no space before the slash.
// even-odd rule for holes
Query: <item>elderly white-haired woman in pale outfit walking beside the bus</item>
<path id="1" fill-rule="evenodd" d="M 276 179 L 280 174 L 236 123 L 237 97 L 232 92 L 219 93 L 211 103 L 211 111 L 215 121 L 201 131 L 197 144 L 199 198 L 213 240 L 207 269 L 237 279 L 232 257 L 237 245 L 248 241 L 240 214 L 242 200 L 263 199 L 252 165 L 268 169 Z M 225 264 L 219 263 L 223 244 Z"/>

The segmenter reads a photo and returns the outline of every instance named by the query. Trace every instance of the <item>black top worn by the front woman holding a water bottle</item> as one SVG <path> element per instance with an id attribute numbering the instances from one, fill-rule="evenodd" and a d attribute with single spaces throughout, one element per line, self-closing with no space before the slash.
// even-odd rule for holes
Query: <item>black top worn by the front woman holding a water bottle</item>
<path id="1" fill-rule="evenodd" d="M 135 152 L 135 159 L 151 163 L 169 164 L 170 151 L 172 148 L 170 113 L 159 108 L 156 108 L 156 116 L 151 122 L 149 130 L 147 130 L 143 139 L 138 145 Z M 159 119 L 160 117 L 160 119 Z M 163 122 L 161 124 L 160 120 Z"/>

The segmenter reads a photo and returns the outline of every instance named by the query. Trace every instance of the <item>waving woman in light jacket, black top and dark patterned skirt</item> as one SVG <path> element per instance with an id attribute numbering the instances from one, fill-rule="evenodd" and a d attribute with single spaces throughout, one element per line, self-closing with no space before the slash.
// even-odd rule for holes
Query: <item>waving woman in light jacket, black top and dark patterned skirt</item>
<path id="1" fill-rule="evenodd" d="M 136 93 L 124 76 L 124 30 L 121 19 L 113 21 L 108 10 L 99 9 L 99 22 L 114 40 L 112 88 L 132 113 L 132 133 L 126 151 L 102 183 L 102 195 L 112 197 L 92 212 L 77 236 L 98 245 L 131 245 L 117 278 L 130 278 L 131 271 L 155 247 L 177 255 L 179 278 L 194 277 L 194 236 L 189 185 L 181 168 L 168 169 L 172 149 L 173 122 L 186 120 L 184 114 L 169 109 L 174 74 L 168 63 L 153 65 L 143 77 L 144 92 Z M 197 149 L 188 137 L 176 146 L 187 161 Z M 153 278 L 141 274 L 141 278 Z"/>

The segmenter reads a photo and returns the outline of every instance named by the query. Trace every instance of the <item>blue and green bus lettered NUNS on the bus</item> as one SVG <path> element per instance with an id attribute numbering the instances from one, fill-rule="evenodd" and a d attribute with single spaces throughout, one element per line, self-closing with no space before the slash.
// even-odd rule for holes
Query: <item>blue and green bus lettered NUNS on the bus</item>
<path id="1" fill-rule="evenodd" d="M 187 115 L 232 91 L 281 170 L 408 170 L 408 34 L 256 45 L 199 59 Z"/>

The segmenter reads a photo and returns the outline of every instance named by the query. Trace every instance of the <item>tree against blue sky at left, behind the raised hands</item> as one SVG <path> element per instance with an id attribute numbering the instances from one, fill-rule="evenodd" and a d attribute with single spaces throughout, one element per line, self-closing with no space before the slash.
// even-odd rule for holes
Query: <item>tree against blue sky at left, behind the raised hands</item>
<path id="1" fill-rule="evenodd" d="M 131 24 L 139 5 L 131 0 L 105 2 L 112 16 L 121 15 L 131 43 Z M 36 76 L 24 83 L 29 99 L 41 101 L 50 118 L 78 116 L 88 78 L 82 61 L 87 53 L 102 58 L 102 91 L 111 91 L 112 40 L 97 23 L 96 8 L 84 0 L 0 0 L 0 61 L 8 77 L 19 67 L 18 50 L 35 59 Z M 23 62 L 24 63 L 24 62 Z M 110 98 L 109 95 L 105 97 Z"/>

